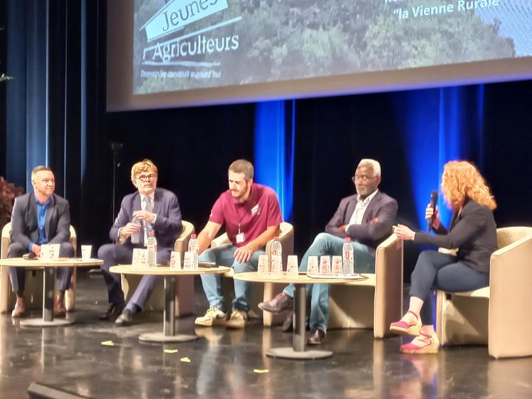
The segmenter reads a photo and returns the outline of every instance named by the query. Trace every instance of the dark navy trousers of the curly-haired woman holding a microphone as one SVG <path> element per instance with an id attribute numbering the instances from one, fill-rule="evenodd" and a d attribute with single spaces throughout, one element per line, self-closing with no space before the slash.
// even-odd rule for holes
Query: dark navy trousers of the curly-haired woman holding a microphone
<path id="1" fill-rule="evenodd" d="M 410 296 L 423 299 L 419 312 L 424 325 L 434 325 L 434 290 L 464 292 L 489 286 L 489 274 L 457 262 L 457 257 L 423 251 L 412 271 Z"/>

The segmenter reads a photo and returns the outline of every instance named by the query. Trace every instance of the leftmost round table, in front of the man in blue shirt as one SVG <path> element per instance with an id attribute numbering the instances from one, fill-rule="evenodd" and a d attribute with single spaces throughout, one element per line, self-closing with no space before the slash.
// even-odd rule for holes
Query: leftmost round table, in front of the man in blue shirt
<path id="1" fill-rule="evenodd" d="M 0 259 L 1 266 L 24 267 L 28 269 L 43 269 L 43 317 L 24 318 L 24 327 L 53 327 L 66 326 L 75 322 L 74 318 L 53 318 L 53 286 L 56 283 L 56 269 L 61 266 L 84 267 L 100 266 L 100 259 L 59 258 L 56 261 L 41 261 L 39 259 L 26 260 L 24 258 Z"/>

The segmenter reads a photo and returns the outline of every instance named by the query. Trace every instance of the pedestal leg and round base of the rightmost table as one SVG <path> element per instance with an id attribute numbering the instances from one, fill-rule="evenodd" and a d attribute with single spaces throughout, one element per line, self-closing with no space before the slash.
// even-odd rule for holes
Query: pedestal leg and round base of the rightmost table
<path id="1" fill-rule="evenodd" d="M 322 359 L 333 356 L 331 351 L 305 351 L 306 292 L 305 284 L 294 284 L 292 348 L 269 348 L 266 355 L 285 359 Z"/>

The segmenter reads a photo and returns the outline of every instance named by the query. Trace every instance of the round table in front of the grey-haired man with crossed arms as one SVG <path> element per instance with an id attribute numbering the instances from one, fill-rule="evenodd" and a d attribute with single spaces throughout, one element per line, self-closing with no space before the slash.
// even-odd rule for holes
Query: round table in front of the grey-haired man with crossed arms
<path id="1" fill-rule="evenodd" d="M 333 356 L 331 351 L 306 351 L 305 350 L 305 318 L 306 318 L 306 284 L 346 284 L 355 281 L 364 281 L 366 278 L 362 276 L 359 280 L 353 279 L 314 279 L 308 277 L 306 273 L 298 276 L 273 276 L 272 274 L 264 275 L 258 274 L 256 271 L 246 271 L 244 273 L 234 274 L 233 279 L 250 281 L 254 283 L 278 283 L 278 284 L 293 284 L 293 333 L 292 333 L 292 347 L 285 346 L 282 348 L 269 348 L 266 355 L 273 358 L 286 359 L 320 359 Z"/>

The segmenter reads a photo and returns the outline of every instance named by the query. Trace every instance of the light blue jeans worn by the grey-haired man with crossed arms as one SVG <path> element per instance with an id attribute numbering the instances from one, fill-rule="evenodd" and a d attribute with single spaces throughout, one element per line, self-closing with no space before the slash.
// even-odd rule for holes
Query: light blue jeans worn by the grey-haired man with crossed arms
<path id="1" fill-rule="evenodd" d="M 343 238 L 333 236 L 333 234 L 318 234 L 311 247 L 303 255 L 299 270 L 307 270 L 308 257 L 311 255 L 317 257 L 322 255 L 341 255 L 344 242 Z M 351 242 L 351 244 L 353 244 L 355 254 L 355 271 L 357 273 L 375 273 L 375 257 L 370 253 L 367 246 L 360 244 L 360 242 Z M 293 298 L 293 284 L 286 286 L 283 292 Z M 309 292 L 312 293 L 310 327 L 327 331 L 330 284 L 308 284 L 306 292 L 307 294 Z"/>

